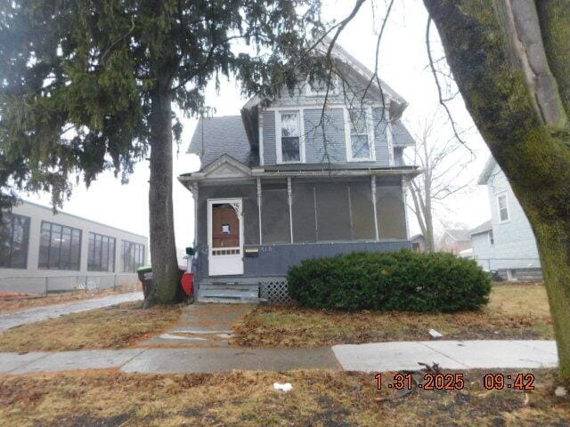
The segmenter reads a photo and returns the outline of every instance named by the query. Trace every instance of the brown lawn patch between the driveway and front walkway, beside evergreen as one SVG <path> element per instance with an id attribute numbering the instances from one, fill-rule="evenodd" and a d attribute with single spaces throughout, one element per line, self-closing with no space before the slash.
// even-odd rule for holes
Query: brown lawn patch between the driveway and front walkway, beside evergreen
<path id="1" fill-rule="evenodd" d="M 180 307 L 142 310 L 126 302 L 18 326 L 0 334 L 0 351 L 62 351 L 129 347 L 159 334 L 180 317 Z"/>

